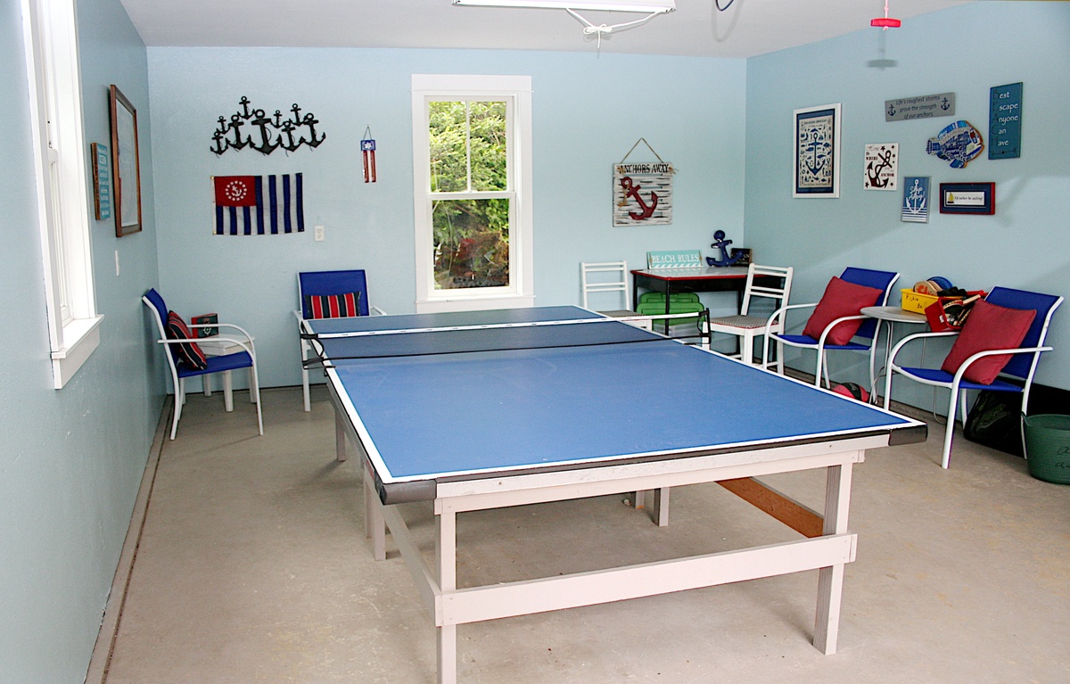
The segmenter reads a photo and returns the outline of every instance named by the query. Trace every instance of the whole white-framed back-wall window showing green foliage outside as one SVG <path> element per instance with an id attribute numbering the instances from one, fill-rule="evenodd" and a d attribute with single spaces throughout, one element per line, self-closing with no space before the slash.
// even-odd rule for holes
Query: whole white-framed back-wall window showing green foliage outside
<path id="1" fill-rule="evenodd" d="M 416 310 L 531 306 L 531 78 L 412 77 Z"/>

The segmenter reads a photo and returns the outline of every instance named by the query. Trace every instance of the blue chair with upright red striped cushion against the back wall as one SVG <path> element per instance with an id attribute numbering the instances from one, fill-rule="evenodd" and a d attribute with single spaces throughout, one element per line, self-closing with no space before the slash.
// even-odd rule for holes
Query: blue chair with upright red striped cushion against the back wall
<path id="1" fill-rule="evenodd" d="M 303 271 L 297 274 L 297 318 L 301 339 L 301 386 L 305 395 L 305 410 L 311 410 L 308 393 L 308 368 L 305 362 L 311 355 L 308 340 L 301 337 L 305 321 L 318 318 L 350 318 L 379 315 L 384 311 L 368 303 L 368 279 L 363 269 L 348 271 Z"/>

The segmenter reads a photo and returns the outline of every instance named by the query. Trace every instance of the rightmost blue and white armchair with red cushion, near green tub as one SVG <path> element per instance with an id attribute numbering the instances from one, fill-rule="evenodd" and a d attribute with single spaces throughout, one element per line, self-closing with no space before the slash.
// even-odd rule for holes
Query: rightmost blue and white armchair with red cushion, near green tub
<path id="1" fill-rule="evenodd" d="M 1029 386 L 1033 384 L 1040 354 L 1052 350 L 1044 346 L 1048 325 L 1061 303 L 1061 297 L 997 287 L 974 305 L 961 332 L 917 333 L 904 337 L 888 356 L 884 408 L 888 408 L 891 401 L 891 379 L 896 375 L 950 390 L 951 400 L 947 410 L 947 430 L 941 460 L 941 465 L 947 468 L 951 461 L 956 405 L 960 404 L 961 397 L 962 423 L 965 425 L 967 391 L 1020 392 L 1024 421 L 1029 405 Z M 958 337 L 939 368 L 913 368 L 896 364 L 896 356 L 906 345 L 917 339 L 951 335 Z M 1002 378 L 1013 378 L 1022 384 Z M 1024 432 L 1022 441 L 1024 450 Z"/>

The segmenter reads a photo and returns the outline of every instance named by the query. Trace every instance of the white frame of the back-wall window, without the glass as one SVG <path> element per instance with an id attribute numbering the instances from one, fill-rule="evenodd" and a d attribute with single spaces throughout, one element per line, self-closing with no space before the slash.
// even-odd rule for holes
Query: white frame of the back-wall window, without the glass
<path id="1" fill-rule="evenodd" d="M 431 193 L 428 103 L 506 103 L 506 164 L 509 197 L 509 286 L 437 290 L 434 287 L 433 199 L 464 199 L 464 193 Z M 413 210 L 416 227 L 416 311 L 477 310 L 533 306 L 534 228 L 532 211 L 531 76 L 413 74 Z M 480 193 L 480 197 L 488 193 Z M 494 194 L 495 196 L 498 194 Z"/>

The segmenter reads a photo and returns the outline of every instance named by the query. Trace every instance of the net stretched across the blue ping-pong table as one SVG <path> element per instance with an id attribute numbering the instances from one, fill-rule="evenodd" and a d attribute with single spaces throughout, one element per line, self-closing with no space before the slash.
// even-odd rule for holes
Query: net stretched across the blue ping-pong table
<path id="1" fill-rule="evenodd" d="M 585 318 L 578 320 L 526 321 L 441 328 L 387 329 L 368 331 L 302 332 L 309 340 L 316 358 L 304 362 L 306 368 L 331 368 L 337 362 L 398 356 L 428 356 L 489 351 L 553 349 L 563 347 L 595 347 L 659 343 L 673 338 L 627 321 L 666 316 Z M 698 319 L 696 330 L 706 330 L 703 320 L 709 311 L 670 315 L 669 319 Z M 693 337 L 699 337 L 696 333 Z"/>

